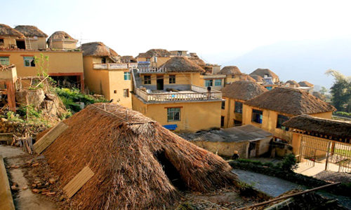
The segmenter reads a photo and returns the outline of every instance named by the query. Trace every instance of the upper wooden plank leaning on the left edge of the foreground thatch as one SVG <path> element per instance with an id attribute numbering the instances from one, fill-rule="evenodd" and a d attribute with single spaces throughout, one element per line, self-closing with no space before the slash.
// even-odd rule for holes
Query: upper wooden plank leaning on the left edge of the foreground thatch
<path id="1" fill-rule="evenodd" d="M 65 123 L 58 123 L 58 125 L 55 125 L 49 132 L 47 132 L 41 139 L 39 139 L 34 145 L 34 151 L 37 154 L 42 153 L 50 144 L 57 139 L 62 132 L 64 132 L 68 128 L 68 125 Z"/>

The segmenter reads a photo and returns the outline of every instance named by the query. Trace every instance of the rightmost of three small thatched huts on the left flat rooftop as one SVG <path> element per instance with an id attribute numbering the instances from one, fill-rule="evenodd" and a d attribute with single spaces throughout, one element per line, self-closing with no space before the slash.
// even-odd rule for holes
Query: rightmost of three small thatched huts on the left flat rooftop
<path id="1" fill-rule="evenodd" d="M 77 42 L 77 39 L 72 38 L 65 31 L 55 31 L 47 41 L 49 48 L 58 50 L 75 49 L 77 48 Z"/>

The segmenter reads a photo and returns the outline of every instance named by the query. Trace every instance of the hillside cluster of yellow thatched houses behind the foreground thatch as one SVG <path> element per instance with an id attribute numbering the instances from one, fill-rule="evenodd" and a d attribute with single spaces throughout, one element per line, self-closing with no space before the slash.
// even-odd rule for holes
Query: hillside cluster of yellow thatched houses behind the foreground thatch
<path id="1" fill-rule="evenodd" d="M 137 57 L 121 56 L 101 42 L 77 48 L 77 39 L 64 31 L 47 37 L 34 26 L 0 25 L 0 64 L 12 65 L 17 77 L 25 79 L 37 75 L 34 58 L 42 54 L 48 57 L 48 75 L 58 84 L 102 94 L 169 130 L 253 125 L 270 132 L 274 141 L 293 144 L 293 133 L 284 122 L 303 114 L 331 119 L 335 111 L 311 94 L 312 84 L 282 83 L 270 69 L 246 74 L 237 66 L 206 64 L 185 50 L 151 49 Z"/>

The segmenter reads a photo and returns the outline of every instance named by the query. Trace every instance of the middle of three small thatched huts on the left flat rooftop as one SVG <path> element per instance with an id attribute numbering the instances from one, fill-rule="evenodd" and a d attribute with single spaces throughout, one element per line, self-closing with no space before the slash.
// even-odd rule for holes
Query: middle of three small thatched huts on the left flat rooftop
<path id="1" fill-rule="evenodd" d="M 25 43 L 27 50 L 45 50 L 46 49 L 46 35 L 43 31 L 32 25 L 18 25 L 15 27 L 25 35 Z"/>

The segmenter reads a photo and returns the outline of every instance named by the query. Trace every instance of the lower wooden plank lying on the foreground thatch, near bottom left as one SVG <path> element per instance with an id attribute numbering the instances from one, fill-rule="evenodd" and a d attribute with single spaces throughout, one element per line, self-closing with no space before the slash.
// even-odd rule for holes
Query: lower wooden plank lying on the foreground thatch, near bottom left
<path id="1" fill-rule="evenodd" d="M 74 178 L 67 183 L 67 185 L 63 188 L 63 191 L 67 195 L 68 198 L 72 197 L 77 191 L 84 186 L 84 184 L 94 176 L 94 172 L 86 166 L 81 169 Z"/>

